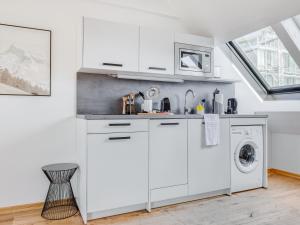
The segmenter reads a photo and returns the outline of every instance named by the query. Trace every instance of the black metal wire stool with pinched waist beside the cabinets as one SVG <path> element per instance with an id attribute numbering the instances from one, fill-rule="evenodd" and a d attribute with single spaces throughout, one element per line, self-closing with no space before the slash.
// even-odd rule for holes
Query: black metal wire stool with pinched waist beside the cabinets
<path id="1" fill-rule="evenodd" d="M 71 178 L 78 165 L 73 163 L 52 164 L 42 167 L 50 181 L 50 186 L 42 217 L 49 220 L 65 219 L 78 212 L 71 186 Z"/>

